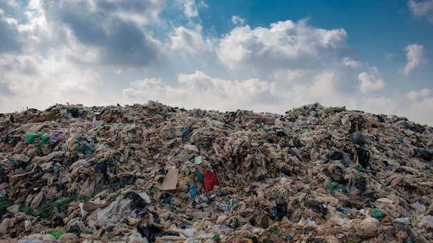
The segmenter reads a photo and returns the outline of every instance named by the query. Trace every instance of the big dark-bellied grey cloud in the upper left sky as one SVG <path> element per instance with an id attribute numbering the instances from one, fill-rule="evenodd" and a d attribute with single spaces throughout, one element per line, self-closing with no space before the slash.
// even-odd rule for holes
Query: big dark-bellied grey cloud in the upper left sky
<path id="1" fill-rule="evenodd" d="M 161 43 L 143 25 L 158 23 L 162 8 L 153 0 L 33 0 L 25 12 L 28 21 L 17 30 L 28 38 L 29 55 L 63 55 L 77 65 L 149 67 L 160 58 Z"/>

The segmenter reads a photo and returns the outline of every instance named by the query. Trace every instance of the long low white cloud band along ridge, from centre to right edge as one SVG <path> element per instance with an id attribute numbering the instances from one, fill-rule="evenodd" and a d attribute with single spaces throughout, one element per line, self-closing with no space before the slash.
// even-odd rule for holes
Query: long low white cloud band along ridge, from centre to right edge
<path id="1" fill-rule="evenodd" d="M 374 71 L 376 72 L 376 71 Z M 431 122 L 433 117 L 423 117 L 430 111 L 430 90 L 417 93 L 421 101 L 413 102 L 396 98 L 368 94 L 351 94 L 338 90 L 339 77 L 333 71 L 315 75 L 313 84 L 294 84 L 293 88 L 282 88 L 279 83 L 244 79 L 241 81 L 210 77 L 197 70 L 190 74 L 178 75 L 178 87 L 166 84 L 160 78 L 147 78 L 131 82 L 123 89 L 122 102 L 125 104 L 145 103 L 159 100 L 170 106 L 202 108 L 208 110 L 255 110 L 282 114 L 292 107 L 320 102 L 324 106 L 347 106 L 348 109 L 365 110 L 376 114 L 407 116 L 416 122 Z M 414 109 L 410 112 L 405 111 Z"/>

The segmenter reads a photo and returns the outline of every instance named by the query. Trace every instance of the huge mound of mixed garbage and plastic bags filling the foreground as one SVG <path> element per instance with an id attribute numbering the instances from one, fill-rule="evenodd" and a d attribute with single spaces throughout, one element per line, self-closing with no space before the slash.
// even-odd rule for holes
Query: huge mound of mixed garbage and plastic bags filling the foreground
<path id="1" fill-rule="evenodd" d="M 432 242 L 433 128 L 56 104 L 0 114 L 3 242 Z"/>

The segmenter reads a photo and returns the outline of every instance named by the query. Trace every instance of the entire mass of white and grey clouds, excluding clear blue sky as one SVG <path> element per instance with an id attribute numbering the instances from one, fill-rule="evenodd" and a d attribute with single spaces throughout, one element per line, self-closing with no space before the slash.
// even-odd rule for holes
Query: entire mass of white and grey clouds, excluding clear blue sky
<path id="1" fill-rule="evenodd" d="M 3 113 L 66 102 L 148 100 L 284 113 L 320 102 L 433 122 L 425 115 L 433 114 L 430 88 L 389 92 L 391 80 L 359 58 L 344 28 L 317 28 L 308 19 L 250 26 L 247 18 L 231 15 L 234 26 L 215 35 L 203 28 L 204 2 L 20 4 L 8 1 L 9 12 L 0 8 L 0 31 L 7 34 L 0 35 Z M 168 19 L 167 11 L 176 19 Z M 426 63 L 427 51 L 411 44 L 405 52 L 401 73 L 407 76 Z"/>

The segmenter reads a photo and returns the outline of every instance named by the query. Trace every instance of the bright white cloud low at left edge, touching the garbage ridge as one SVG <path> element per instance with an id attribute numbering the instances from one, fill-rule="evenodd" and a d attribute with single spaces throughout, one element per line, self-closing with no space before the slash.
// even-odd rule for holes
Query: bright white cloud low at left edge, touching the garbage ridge
<path id="1" fill-rule="evenodd" d="M 26 106 L 44 109 L 66 102 L 92 106 L 107 99 L 98 95 L 104 89 L 99 72 L 76 68 L 66 59 L 4 55 L 0 70 L 3 112 Z"/>

